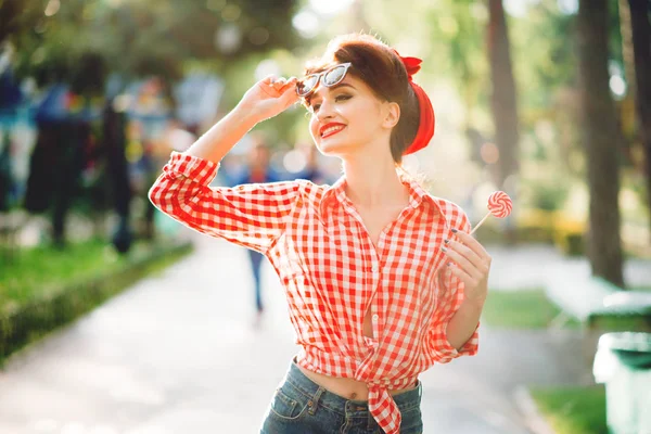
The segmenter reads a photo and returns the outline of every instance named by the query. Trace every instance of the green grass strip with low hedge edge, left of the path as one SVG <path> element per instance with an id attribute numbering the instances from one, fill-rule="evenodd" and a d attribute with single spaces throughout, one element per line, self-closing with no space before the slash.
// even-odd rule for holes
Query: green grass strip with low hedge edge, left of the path
<path id="1" fill-rule="evenodd" d="M 0 361 L 190 252 L 189 244 L 137 245 L 117 258 L 98 240 L 38 247 L 0 265 Z"/>

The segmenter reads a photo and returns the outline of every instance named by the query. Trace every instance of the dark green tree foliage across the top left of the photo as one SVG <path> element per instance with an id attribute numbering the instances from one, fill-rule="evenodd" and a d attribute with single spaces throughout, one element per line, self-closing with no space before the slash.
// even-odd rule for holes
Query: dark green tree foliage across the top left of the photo
<path id="1" fill-rule="evenodd" d="M 298 41 L 290 25 L 294 0 L 68 0 L 46 14 L 53 2 L 22 2 L 21 8 L 0 3 L 0 16 L 13 24 L 0 40 L 16 48 L 20 75 L 36 75 L 40 85 L 76 76 L 79 60 L 89 53 L 124 76 L 176 79 L 187 61 L 199 59 L 221 71 L 252 53 Z M 221 50 L 216 39 L 226 28 L 239 42 Z"/>

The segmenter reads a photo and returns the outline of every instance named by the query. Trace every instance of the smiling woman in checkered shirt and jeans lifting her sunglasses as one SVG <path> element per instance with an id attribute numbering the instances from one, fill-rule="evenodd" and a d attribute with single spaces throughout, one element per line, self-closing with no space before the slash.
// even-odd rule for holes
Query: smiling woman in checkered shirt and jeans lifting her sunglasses
<path id="1" fill-rule="evenodd" d="M 422 433 L 418 375 L 477 350 L 490 257 L 457 205 L 400 168 L 434 132 L 419 63 L 371 36 L 335 38 L 304 79 L 255 84 L 151 189 L 163 212 L 264 253 L 281 279 L 301 350 L 263 433 Z M 299 100 L 319 151 L 342 159 L 339 181 L 208 188 L 246 131 Z"/>

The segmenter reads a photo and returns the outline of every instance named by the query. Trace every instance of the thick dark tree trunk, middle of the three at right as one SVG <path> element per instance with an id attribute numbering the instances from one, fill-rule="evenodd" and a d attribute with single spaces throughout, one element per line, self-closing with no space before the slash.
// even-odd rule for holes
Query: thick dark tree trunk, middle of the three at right
<path id="1" fill-rule="evenodd" d="M 590 192 L 588 256 L 593 276 L 624 286 L 617 201 L 620 135 L 609 87 L 608 13 L 608 0 L 580 0 L 582 130 Z"/>

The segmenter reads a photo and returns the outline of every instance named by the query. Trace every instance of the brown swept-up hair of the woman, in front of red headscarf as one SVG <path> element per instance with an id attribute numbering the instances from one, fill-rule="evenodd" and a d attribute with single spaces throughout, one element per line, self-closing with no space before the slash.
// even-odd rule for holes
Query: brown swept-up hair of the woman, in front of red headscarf
<path id="1" fill-rule="evenodd" d="M 378 98 L 395 102 L 400 107 L 400 119 L 391 132 L 391 154 L 394 162 L 400 164 L 420 123 L 418 99 L 409 85 L 403 61 L 375 37 L 350 34 L 332 39 L 326 53 L 307 64 L 305 74 L 320 73 L 344 62 L 353 64 L 348 74 L 362 80 Z M 305 102 L 309 104 L 309 97 Z"/>

